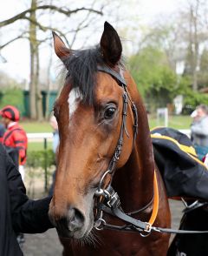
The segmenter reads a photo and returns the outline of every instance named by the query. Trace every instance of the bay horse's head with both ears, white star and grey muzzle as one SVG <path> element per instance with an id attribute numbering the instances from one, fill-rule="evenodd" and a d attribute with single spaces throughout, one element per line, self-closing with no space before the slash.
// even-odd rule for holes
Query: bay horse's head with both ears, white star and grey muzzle
<path id="1" fill-rule="evenodd" d="M 132 153 L 130 95 L 136 85 L 122 64 L 120 37 L 110 24 L 105 23 L 94 48 L 69 50 L 55 33 L 54 45 L 68 73 L 54 107 L 60 146 L 49 215 L 60 236 L 82 239 L 94 227 L 94 193 L 101 179 L 106 186 L 107 170 L 125 165 Z"/>

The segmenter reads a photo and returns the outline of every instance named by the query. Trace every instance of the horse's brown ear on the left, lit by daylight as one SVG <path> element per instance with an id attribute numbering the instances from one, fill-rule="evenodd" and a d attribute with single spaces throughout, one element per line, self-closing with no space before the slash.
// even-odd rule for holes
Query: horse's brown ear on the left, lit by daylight
<path id="1" fill-rule="evenodd" d="M 70 50 L 63 43 L 61 37 L 59 37 L 54 31 L 52 33 L 53 33 L 53 37 L 54 37 L 55 53 L 56 53 L 57 57 L 59 57 L 61 60 L 64 60 L 64 58 L 66 58 L 70 55 Z"/>

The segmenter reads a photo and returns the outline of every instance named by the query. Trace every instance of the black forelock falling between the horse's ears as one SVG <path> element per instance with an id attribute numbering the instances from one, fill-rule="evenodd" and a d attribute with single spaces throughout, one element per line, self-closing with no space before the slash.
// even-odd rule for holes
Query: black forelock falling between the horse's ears
<path id="1" fill-rule="evenodd" d="M 83 103 L 94 104 L 94 88 L 98 65 L 106 65 L 101 56 L 99 46 L 81 51 L 71 51 L 68 58 L 63 60 L 68 70 L 67 84 L 72 88 L 79 88 L 83 96 Z"/>

